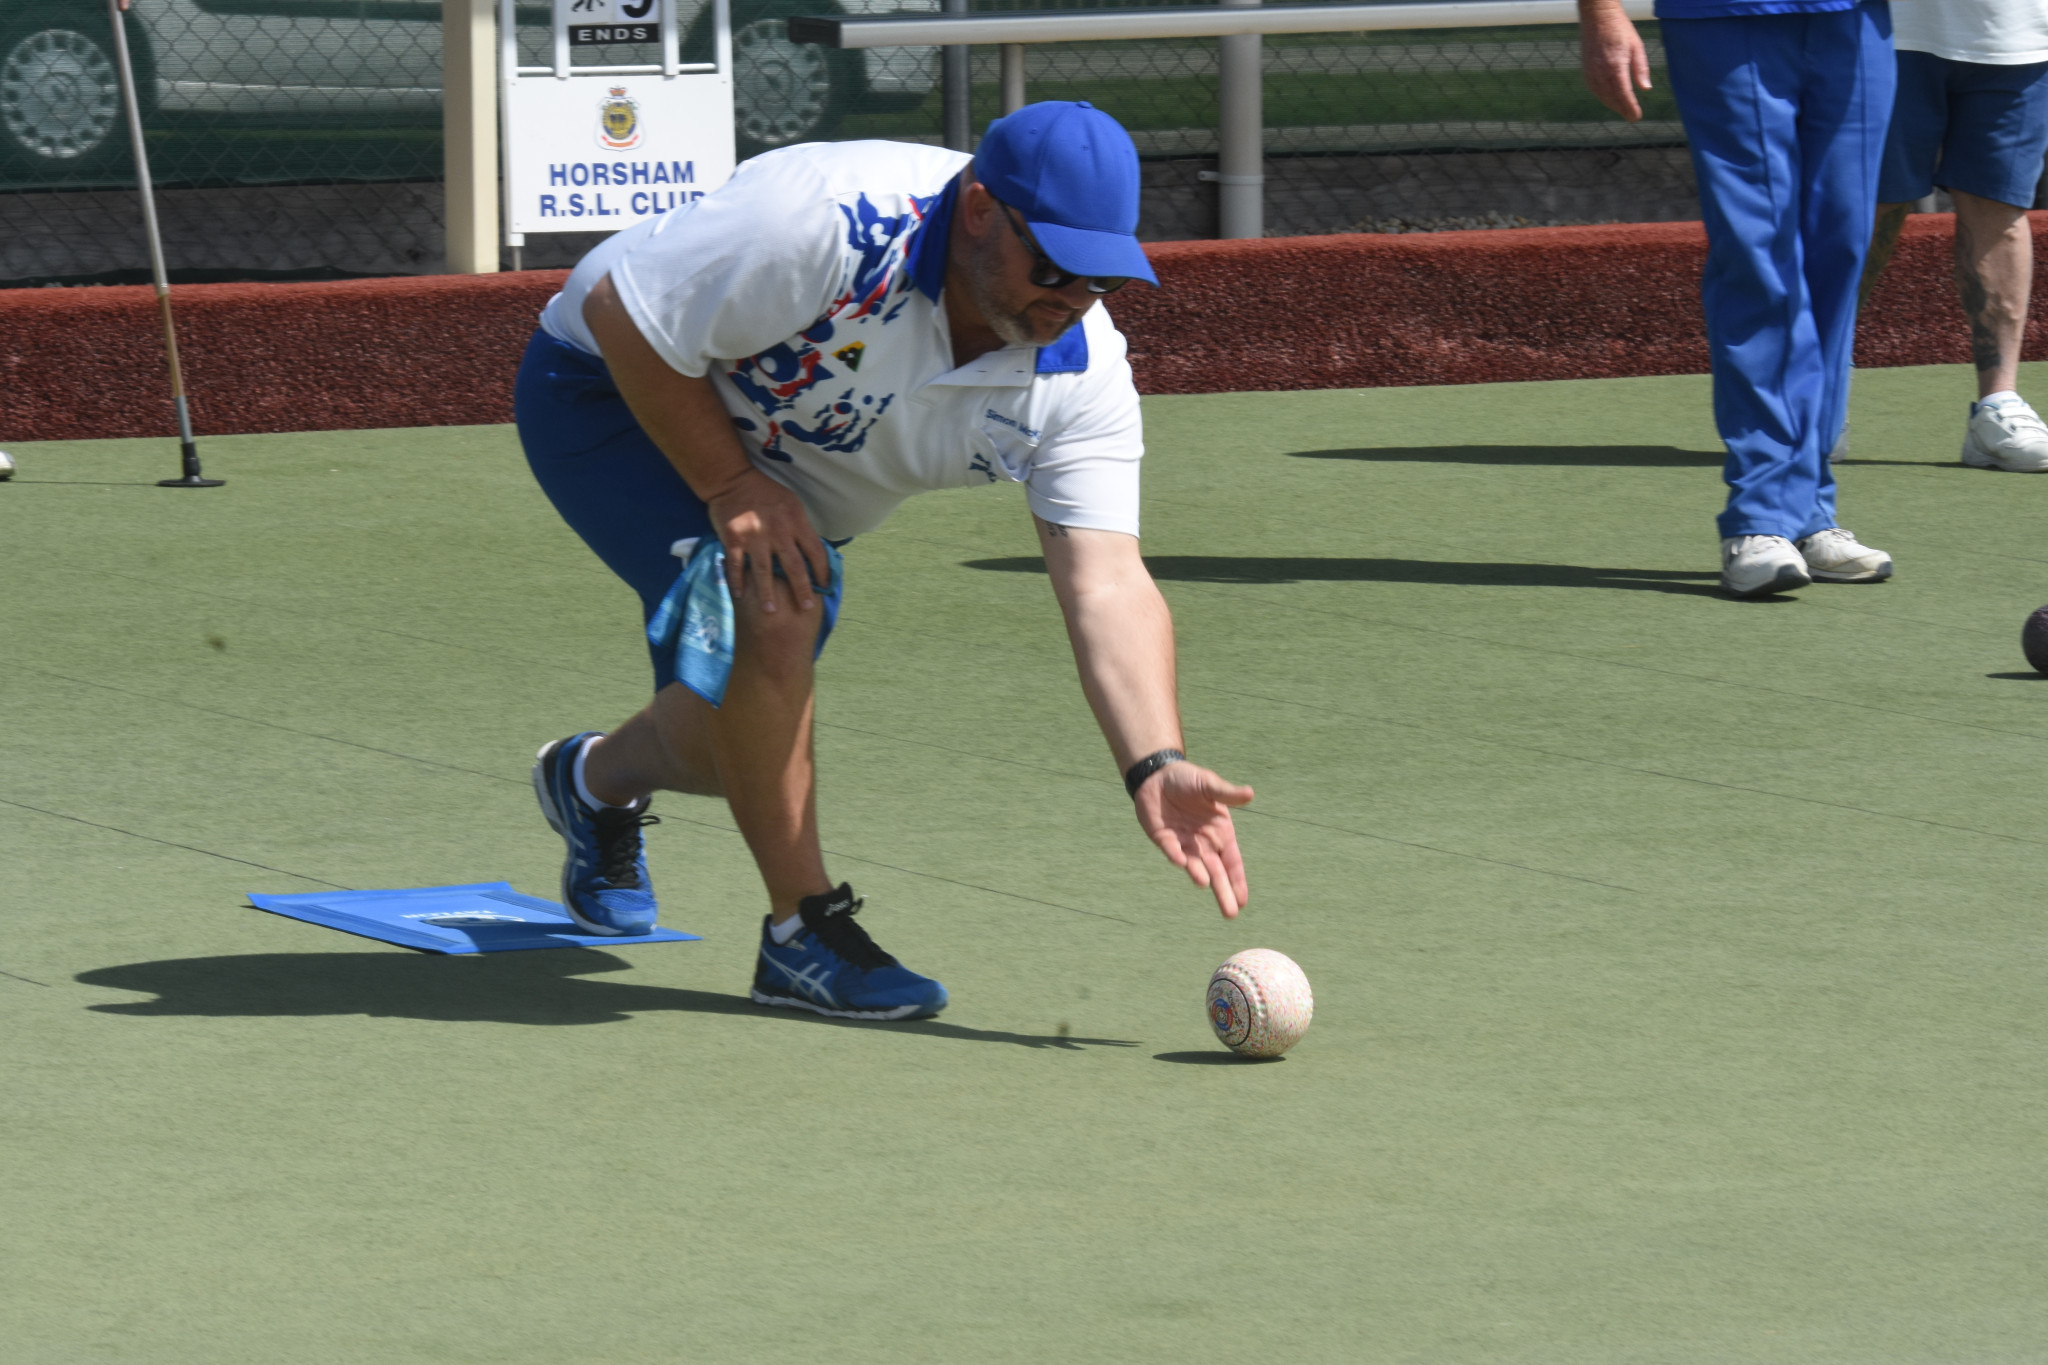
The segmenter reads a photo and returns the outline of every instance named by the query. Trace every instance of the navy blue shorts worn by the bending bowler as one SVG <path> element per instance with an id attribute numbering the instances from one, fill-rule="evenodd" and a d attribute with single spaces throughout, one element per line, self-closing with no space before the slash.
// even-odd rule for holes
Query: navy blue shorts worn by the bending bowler
<path id="1" fill-rule="evenodd" d="M 604 360 L 535 332 L 512 413 L 526 463 L 555 512 L 639 593 L 641 624 L 682 573 L 670 546 L 711 536 L 711 514 L 633 420 Z M 645 639 L 645 636 L 643 636 Z M 647 647 L 655 692 L 676 681 L 674 647 Z"/>

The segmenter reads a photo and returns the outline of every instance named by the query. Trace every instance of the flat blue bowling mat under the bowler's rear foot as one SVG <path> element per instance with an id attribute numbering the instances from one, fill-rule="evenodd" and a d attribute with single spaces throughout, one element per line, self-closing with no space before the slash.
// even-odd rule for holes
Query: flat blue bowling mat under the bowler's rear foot
<path id="1" fill-rule="evenodd" d="M 520 948 L 625 948 L 694 943 L 698 935 L 655 929 L 633 937 L 578 933 L 553 900 L 522 896 L 510 882 L 414 886 L 408 890 L 313 890 L 299 896 L 250 894 L 250 905 L 309 925 L 360 933 L 436 954 L 502 954 Z"/>

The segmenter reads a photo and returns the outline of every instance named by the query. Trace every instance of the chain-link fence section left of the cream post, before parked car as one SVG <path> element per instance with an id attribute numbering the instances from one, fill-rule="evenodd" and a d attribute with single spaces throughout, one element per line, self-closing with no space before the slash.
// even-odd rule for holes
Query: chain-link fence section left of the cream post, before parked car
<path id="1" fill-rule="evenodd" d="M 438 4 L 135 0 L 125 29 L 180 278 L 436 266 Z M 133 184 L 104 0 L 0 0 L 0 280 L 143 278 Z"/>

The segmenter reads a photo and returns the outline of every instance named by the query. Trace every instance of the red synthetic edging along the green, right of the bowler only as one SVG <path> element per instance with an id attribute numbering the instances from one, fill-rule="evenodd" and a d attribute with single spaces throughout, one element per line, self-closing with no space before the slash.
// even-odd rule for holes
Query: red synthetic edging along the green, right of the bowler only
<path id="1" fill-rule="evenodd" d="M 2036 241 L 2048 213 L 2034 213 Z M 1960 364 L 1952 215 L 1909 219 L 1858 364 Z M 1147 393 L 1698 375 L 1698 223 L 1174 241 L 1157 295 L 1116 301 Z M 1126 291 L 1130 293 L 1130 291 Z M 2028 319 L 2028 358 L 2048 319 Z"/>

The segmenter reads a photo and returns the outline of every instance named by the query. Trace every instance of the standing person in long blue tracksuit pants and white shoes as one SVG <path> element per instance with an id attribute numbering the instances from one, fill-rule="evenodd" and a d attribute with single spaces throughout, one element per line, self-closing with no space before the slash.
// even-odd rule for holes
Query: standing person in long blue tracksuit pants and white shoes
<path id="1" fill-rule="evenodd" d="M 1657 0 L 1657 18 L 1706 219 L 1722 587 L 1886 579 L 1890 557 L 1835 524 L 1827 463 L 1896 84 L 1886 0 Z M 1649 57 L 1620 0 L 1579 0 L 1579 31 L 1587 86 L 1640 119 Z"/>

